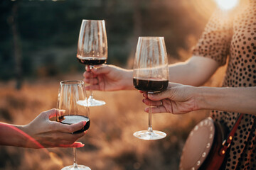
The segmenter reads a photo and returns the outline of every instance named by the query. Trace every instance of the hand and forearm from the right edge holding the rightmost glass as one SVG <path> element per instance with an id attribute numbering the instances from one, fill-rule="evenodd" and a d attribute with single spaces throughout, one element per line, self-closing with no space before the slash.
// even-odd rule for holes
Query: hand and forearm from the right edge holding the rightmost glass
<path id="1" fill-rule="evenodd" d="M 169 83 L 168 89 L 162 93 L 144 93 L 143 102 L 155 106 L 152 113 L 182 114 L 205 109 L 255 115 L 255 94 L 256 86 L 195 87 Z M 145 111 L 149 112 L 149 109 L 145 108 Z"/>

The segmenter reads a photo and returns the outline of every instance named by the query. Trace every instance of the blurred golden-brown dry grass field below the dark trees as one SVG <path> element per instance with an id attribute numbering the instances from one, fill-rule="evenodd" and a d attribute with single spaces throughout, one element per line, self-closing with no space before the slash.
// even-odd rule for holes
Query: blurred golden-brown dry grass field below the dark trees
<path id="1" fill-rule="evenodd" d="M 220 69 L 208 84 L 218 85 Z M 42 111 L 56 107 L 59 82 L 82 79 L 82 73 L 65 77 L 25 81 L 16 91 L 14 81 L 0 84 L 0 120 L 25 125 Z M 87 95 L 89 93 L 87 92 Z M 90 108 L 91 126 L 80 139 L 85 147 L 78 149 L 78 163 L 91 169 L 178 169 L 179 157 L 186 137 L 208 111 L 186 115 L 169 113 L 153 116 L 153 129 L 166 132 L 163 140 L 144 141 L 133 132 L 146 130 L 142 94 L 138 91 L 95 91 L 95 98 L 106 101 L 105 106 Z M 23 149 L 0 147 L 0 169 L 61 169 L 73 164 L 72 149 Z"/>

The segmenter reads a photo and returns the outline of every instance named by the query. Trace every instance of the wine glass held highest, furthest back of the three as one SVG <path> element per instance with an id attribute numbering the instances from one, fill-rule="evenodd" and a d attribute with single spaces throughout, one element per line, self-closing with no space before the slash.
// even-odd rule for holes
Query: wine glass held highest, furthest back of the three
<path id="1" fill-rule="evenodd" d="M 90 69 L 107 62 L 107 33 L 104 20 L 82 20 L 77 59 L 80 63 L 89 65 Z M 90 91 L 88 105 L 102 106 L 105 101 L 96 100 Z"/>

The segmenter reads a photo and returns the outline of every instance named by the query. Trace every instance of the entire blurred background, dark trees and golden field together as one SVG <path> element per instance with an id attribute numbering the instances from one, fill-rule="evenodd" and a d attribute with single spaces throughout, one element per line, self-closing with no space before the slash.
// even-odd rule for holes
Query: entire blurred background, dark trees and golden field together
<path id="1" fill-rule="evenodd" d="M 0 1 L 0 121 L 25 125 L 56 107 L 59 82 L 82 79 L 75 59 L 82 19 L 104 19 L 107 64 L 132 69 L 139 36 L 164 36 L 169 63 L 191 57 L 213 0 Z M 222 67 L 205 86 L 220 84 Z M 87 93 L 89 94 L 89 93 Z M 78 163 L 91 169 L 178 169 L 190 130 L 208 111 L 153 116 L 163 140 L 144 141 L 133 132 L 147 127 L 137 91 L 95 91 L 105 106 L 90 108 L 91 127 L 80 139 Z M 73 163 L 72 149 L 0 146 L 0 169 L 61 169 Z"/>

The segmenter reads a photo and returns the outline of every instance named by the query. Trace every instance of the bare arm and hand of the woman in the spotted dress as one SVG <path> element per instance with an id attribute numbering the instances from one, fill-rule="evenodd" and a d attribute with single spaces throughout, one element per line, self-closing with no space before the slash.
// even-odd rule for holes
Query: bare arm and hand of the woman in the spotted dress
<path id="1" fill-rule="evenodd" d="M 191 86 L 204 84 L 218 69 L 215 60 L 193 56 L 186 62 L 169 65 L 169 81 Z M 132 90 L 132 70 L 122 69 L 113 65 L 103 65 L 97 69 L 85 68 L 83 74 L 87 84 L 86 90 L 117 91 Z"/>

